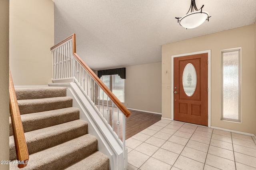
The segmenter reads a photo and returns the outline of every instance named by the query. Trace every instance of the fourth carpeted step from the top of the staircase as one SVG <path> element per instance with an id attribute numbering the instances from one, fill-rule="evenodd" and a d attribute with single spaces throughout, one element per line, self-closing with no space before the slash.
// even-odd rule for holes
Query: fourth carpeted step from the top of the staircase
<path id="1" fill-rule="evenodd" d="M 87 134 L 88 123 L 75 120 L 25 133 L 29 154 L 54 147 L 66 141 Z M 10 136 L 10 160 L 16 159 L 14 138 Z"/>

